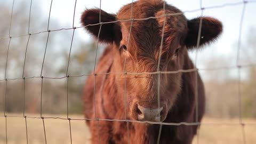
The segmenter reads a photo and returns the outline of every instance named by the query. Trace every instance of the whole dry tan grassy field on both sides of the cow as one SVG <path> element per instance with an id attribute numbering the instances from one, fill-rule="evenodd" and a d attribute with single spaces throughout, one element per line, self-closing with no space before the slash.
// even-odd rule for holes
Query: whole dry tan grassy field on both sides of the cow
<path id="1" fill-rule="evenodd" d="M 12 114 L 22 116 L 22 114 Z M 39 115 L 31 115 L 39 117 Z M 44 115 L 44 117 L 62 117 L 65 115 Z M 71 118 L 83 118 L 82 115 L 70 115 Z M 199 130 L 199 138 L 194 143 L 243 143 L 242 126 L 238 119 L 204 118 Z M 221 123 L 221 124 L 220 124 Z M 246 143 L 256 143 L 256 120 L 244 119 Z M 44 119 L 47 143 L 70 143 L 69 121 L 67 119 Z M 90 132 L 84 121 L 70 121 L 72 143 L 90 143 Z M 27 118 L 28 143 L 45 143 L 42 119 Z M 0 117 L 0 143 L 6 143 L 5 117 Z M 197 141 L 199 140 L 199 141 Z M 27 143 L 26 123 L 23 117 L 7 117 L 7 143 Z"/>

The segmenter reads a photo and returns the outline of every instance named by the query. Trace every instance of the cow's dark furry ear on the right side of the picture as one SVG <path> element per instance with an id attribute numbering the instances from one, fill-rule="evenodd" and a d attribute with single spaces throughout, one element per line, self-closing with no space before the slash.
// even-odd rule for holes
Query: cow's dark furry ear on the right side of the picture
<path id="1" fill-rule="evenodd" d="M 210 42 L 214 41 L 222 32 L 222 23 L 217 19 L 210 17 L 199 17 L 188 20 L 188 34 L 185 44 L 190 50 L 197 46 L 200 19 L 202 19 L 202 29 L 199 46 L 209 44 Z"/>

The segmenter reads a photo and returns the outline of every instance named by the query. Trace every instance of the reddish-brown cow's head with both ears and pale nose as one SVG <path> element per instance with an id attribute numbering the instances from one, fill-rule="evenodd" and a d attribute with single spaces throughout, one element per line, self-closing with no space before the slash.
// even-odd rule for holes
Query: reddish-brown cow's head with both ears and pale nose
<path id="1" fill-rule="evenodd" d="M 118 90 L 122 92 L 126 81 L 129 114 L 133 119 L 140 121 L 164 121 L 174 105 L 181 91 L 182 73 L 152 72 L 184 68 L 185 59 L 188 59 L 187 50 L 197 49 L 200 19 L 202 31 L 199 47 L 214 41 L 222 31 L 221 22 L 217 19 L 198 17 L 187 20 L 174 6 L 165 4 L 164 12 L 163 3 L 165 2 L 137 1 L 132 5 L 123 6 L 117 14 L 90 9 L 86 10 L 81 18 L 84 26 L 99 23 L 99 17 L 101 22 L 110 22 L 101 26 L 87 26 L 86 29 L 94 37 L 98 37 L 100 30 L 99 41 L 113 44 L 115 72 L 142 73 L 115 76 L 119 84 Z M 132 18 L 137 20 L 128 20 L 131 19 L 131 6 Z M 164 14 L 167 16 L 163 17 Z M 156 18 L 145 19 L 148 17 Z M 124 98 L 123 95 L 116 97 Z"/>

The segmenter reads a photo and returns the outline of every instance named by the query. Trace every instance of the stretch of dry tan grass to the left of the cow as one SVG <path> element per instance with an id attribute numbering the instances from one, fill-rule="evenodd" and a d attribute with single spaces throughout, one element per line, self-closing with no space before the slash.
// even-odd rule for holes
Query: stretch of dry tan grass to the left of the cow
<path id="1" fill-rule="evenodd" d="M 47 115 L 47 117 L 65 118 L 66 116 Z M 82 115 L 71 115 L 70 117 L 84 118 Z M 67 119 L 46 118 L 44 124 L 47 143 L 70 143 L 69 121 Z M 85 121 L 70 121 L 70 124 L 72 143 L 89 143 L 90 133 Z M 27 129 L 28 143 L 45 143 L 42 119 L 27 118 Z M 7 117 L 7 140 L 9 144 L 26 143 L 25 118 Z M 0 143 L 5 142 L 5 118 L 0 117 Z"/>

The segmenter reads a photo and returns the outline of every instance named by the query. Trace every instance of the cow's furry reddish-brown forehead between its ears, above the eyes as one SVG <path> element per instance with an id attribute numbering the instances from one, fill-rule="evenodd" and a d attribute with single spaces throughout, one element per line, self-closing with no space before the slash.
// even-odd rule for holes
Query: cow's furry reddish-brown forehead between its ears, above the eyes
<path id="1" fill-rule="evenodd" d="M 131 35 L 138 42 L 160 41 L 162 30 L 164 30 L 165 40 L 169 42 L 177 35 L 186 35 L 186 17 L 179 9 L 168 4 L 163 10 L 163 3 L 163 1 L 137 1 L 123 6 L 117 14 L 118 20 L 131 19 L 131 16 L 135 19 L 121 22 L 123 38 L 127 39 L 131 27 Z M 164 14 L 167 15 L 164 17 Z M 163 26 L 165 26 L 164 29 Z"/>

